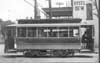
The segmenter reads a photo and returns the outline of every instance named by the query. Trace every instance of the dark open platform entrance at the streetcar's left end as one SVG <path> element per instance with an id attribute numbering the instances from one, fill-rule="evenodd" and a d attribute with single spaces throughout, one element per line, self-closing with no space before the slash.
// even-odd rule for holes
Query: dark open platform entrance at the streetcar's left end
<path id="1" fill-rule="evenodd" d="M 6 39 L 5 39 L 5 52 L 14 49 L 14 29 L 7 27 L 6 29 Z"/>

